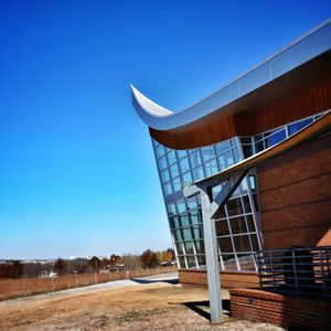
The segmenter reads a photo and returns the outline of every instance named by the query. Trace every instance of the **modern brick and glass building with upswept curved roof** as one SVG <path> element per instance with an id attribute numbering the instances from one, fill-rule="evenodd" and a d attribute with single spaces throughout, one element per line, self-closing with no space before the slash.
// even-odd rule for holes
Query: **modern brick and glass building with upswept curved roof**
<path id="1" fill-rule="evenodd" d="M 131 86 L 181 281 L 206 282 L 201 199 L 183 188 L 243 167 L 245 178 L 214 216 L 224 286 L 257 285 L 257 250 L 331 245 L 330 49 L 327 21 L 180 113 Z M 225 183 L 210 188 L 211 201 Z"/>

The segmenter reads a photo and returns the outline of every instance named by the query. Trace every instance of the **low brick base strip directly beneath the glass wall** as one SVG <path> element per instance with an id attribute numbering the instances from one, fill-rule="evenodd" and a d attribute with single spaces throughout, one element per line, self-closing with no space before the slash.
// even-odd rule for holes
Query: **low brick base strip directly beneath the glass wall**
<path id="1" fill-rule="evenodd" d="M 222 271 L 220 276 L 223 288 L 259 286 L 259 278 L 255 271 Z M 179 278 L 181 284 L 207 285 L 205 270 L 180 269 Z"/>

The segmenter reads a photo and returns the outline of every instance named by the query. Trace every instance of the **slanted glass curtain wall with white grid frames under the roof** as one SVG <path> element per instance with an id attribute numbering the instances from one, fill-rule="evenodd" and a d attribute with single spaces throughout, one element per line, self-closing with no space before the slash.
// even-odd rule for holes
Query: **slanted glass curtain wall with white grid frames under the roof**
<path id="1" fill-rule="evenodd" d="M 212 146 L 169 149 L 152 140 L 169 225 L 180 268 L 205 268 L 200 196 L 183 196 L 186 182 L 210 177 L 274 146 L 316 120 L 305 118 L 254 137 L 236 137 Z M 214 186 L 215 196 L 222 184 Z M 256 269 L 254 252 L 261 248 L 256 178 L 249 173 L 215 218 L 218 258 L 223 270 Z"/>

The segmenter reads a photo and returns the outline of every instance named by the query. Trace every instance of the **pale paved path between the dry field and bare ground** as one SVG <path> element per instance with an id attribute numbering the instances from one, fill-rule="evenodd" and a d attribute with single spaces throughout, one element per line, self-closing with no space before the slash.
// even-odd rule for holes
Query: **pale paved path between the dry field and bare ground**
<path id="1" fill-rule="evenodd" d="M 151 275 L 145 277 L 136 277 L 132 279 L 114 280 L 114 281 L 100 282 L 95 285 L 88 285 L 78 288 L 72 288 L 67 290 L 55 291 L 55 292 L 47 292 L 47 293 L 22 297 L 18 299 L 3 300 L 0 302 L 0 307 L 10 305 L 11 302 L 18 302 L 18 301 L 39 300 L 39 299 L 51 298 L 51 297 L 56 298 L 56 297 L 64 297 L 74 293 L 79 293 L 79 295 L 92 293 L 97 291 L 104 291 L 109 289 L 117 289 L 117 288 L 124 288 L 124 287 L 130 287 L 130 286 L 143 285 L 143 284 L 151 284 L 151 282 L 177 284 L 178 273 L 167 273 L 167 274 Z"/>

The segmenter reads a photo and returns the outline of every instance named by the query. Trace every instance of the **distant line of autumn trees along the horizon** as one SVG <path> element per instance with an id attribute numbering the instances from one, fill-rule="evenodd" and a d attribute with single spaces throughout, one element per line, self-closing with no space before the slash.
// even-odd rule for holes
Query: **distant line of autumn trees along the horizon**
<path id="1" fill-rule="evenodd" d="M 64 259 L 58 257 L 50 261 L 22 261 L 6 260 L 0 263 L 0 278 L 40 277 L 46 273 L 57 275 L 87 274 L 87 273 L 113 273 L 140 268 L 156 268 L 166 261 L 175 259 L 174 250 L 153 252 L 147 249 L 141 255 L 126 253 L 111 254 L 109 257 Z"/>

